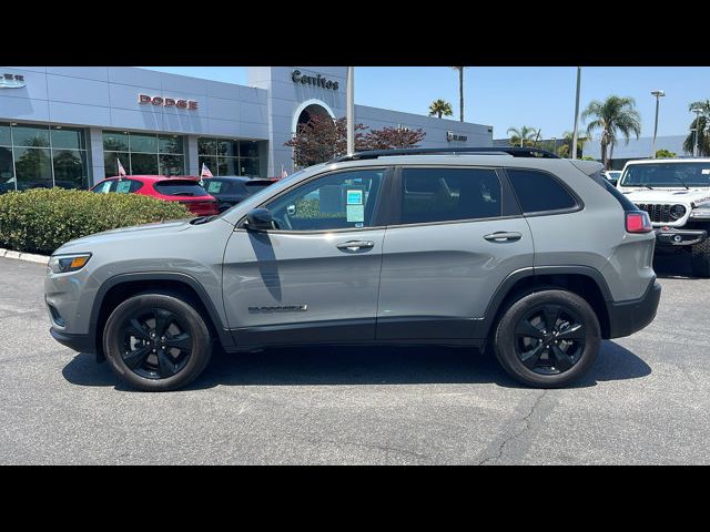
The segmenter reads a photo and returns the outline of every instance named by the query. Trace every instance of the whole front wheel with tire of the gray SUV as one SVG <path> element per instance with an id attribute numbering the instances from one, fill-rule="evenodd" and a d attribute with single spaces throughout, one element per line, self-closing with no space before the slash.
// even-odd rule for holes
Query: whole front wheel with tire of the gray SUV
<path id="1" fill-rule="evenodd" d="M 180 296 L 162 293 L 139 294 L 121 303 L 104 327 L 103 348 L 111 369 L 143 391 L 187 385 L 212 356 L 204 319 Z"/>

